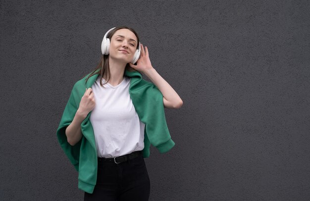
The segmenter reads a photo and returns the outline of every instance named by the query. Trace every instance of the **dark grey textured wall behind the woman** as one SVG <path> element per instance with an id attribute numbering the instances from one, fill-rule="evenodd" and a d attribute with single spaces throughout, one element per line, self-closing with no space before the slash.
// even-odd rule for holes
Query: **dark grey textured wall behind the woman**
<path id="1" fill-rule="evenodd" d="M 1 201 L 77 201 L 57 139 L 105 32 L 134 28 L 184 105 L 146 159 L 150 201 L 310 200 L 307 0 L 0 1 Z"/>

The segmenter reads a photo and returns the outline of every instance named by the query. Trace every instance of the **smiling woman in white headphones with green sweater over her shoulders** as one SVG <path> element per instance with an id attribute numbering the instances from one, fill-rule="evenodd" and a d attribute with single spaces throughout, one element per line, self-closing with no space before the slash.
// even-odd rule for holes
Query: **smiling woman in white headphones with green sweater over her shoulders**
<path id="1" fill-rule="evenodd" d="M 57 138 L 79 171 L 85 201 L 147 201 L 143 158 L 150 144 L 160 153 L 174 146 L 163 107 L 180 108 L 183 102 L 155 71 L 133 29 L 110 29 L 102 52 L 97 68 L 74 84 Z"/>

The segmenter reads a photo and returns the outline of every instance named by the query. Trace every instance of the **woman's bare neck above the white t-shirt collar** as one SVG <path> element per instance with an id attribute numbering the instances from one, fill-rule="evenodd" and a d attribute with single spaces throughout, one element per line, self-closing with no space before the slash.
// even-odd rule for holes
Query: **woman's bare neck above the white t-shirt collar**
<path id="1" fill-rule="evenodd" d="M 110 70 L 110 80 L 109 84 L 112 86 L 118 85 L 124 79 L 126 63 L 113 60 L 109 57 L 109 70 Z M 104 78 L 105 80 L 107 78 Z"/>

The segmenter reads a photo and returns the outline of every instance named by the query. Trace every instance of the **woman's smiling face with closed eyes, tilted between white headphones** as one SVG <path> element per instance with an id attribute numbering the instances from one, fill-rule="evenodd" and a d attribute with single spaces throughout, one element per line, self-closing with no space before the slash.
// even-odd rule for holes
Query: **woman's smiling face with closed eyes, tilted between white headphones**
<path id="1" fill-rule="evenodd" d="M 110 40 L 109 57 L 129 63 L 137 49 L 137 37 L 128 29 L 117 30 Z"/>

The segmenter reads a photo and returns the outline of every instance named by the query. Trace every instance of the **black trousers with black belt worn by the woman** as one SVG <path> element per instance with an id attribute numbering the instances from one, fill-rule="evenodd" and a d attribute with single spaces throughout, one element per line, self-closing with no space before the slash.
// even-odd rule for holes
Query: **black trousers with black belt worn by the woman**
<path id="1" fill-rule="evenodd" d="M 143 156 L 116 164 L 98 160 L 97 183 L 84 201 L 148 201 L 150 179 Z"/>

